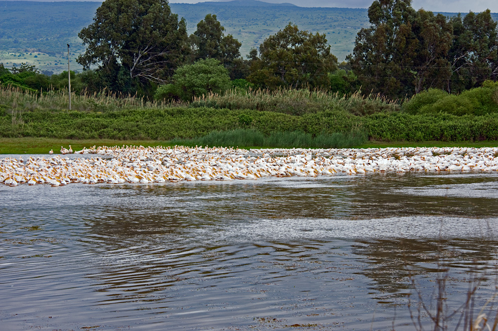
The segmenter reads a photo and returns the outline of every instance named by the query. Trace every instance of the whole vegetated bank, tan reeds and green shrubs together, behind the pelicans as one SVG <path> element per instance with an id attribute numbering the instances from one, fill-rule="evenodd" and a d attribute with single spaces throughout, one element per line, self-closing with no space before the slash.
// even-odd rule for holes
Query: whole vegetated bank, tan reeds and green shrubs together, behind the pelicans
<path id="1" fill-rule="evenodd" d="M 498 113 L 413 114 L 379 96 L 232 91 L 187 104 L 161 104 L 102 93 L 74 96 L 73 110 L 67 110 L 67 101 L 67 93 L 37 95 L 0 89 L 0 137 L 241 147 L 350 147 L 369 140 L 414 145 L 440 141 L 447 145 L 498 140 Z M 60 144 L 51 148 L 59 150 Z"/>

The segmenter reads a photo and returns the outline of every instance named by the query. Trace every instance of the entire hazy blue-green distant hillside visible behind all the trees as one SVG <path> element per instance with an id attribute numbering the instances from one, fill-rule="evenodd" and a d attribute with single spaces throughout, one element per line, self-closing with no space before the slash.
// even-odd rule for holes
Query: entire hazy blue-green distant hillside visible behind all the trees
<path id="1" fill-rule="evenodd" d="M 0 62 L 7 67 L 28 62 L 42 70 L 61 72 L 67 68 L 66 43 L 69 43 L 71 67 L 81 69 L 75 61 L 84 51 L 78 32 L 92 22 L 101 3 L 0 1 Z M 170 6 L 186 19 L 189 33 L 195 31 L 206 14 L 216 14 L 226 33 L 242 42 L 244 55 L 292 22 L 300 29 L 325 33 L 332 53 L 342 61 L 352 52 L 357 32 L 369 25 L 368 9 L 364 8 L 298 7 L 256 0 L 170 3 Z M 494 18 L 498 19 L 498 15 L 494 14 Z"/>

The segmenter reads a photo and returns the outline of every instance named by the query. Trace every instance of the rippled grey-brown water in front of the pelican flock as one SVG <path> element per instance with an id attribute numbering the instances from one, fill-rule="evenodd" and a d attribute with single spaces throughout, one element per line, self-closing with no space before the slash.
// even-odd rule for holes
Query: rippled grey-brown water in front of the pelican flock
<path id="1" fill-rule="evenodd" d="M 0 330 L 430 329 L 497 235 L 496 174 L 1 186 Z"/>

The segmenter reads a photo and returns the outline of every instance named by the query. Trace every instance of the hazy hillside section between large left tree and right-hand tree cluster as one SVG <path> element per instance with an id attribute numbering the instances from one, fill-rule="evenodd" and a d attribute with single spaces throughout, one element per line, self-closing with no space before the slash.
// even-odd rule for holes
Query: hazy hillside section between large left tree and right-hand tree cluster
<path id="1" fill-rule="evenodd" d="M 248 54 L 252 47 L 259 46 L 269 35 L 292 22 L 302 30 L 325 33 L 332 53 L 344 60 L 353 50 L 357 32 L 369 25 L 368 10 L 364 8 L 308 8 L 255 0 L 170 3 L 170 6 L 173 12 L 187 20 L 189 33 L 195 31 L 206 14 L 216 14 L 227 33 L 242 42 L 242 54 Z M 250 6 L 250 10 L 241 6 Z"/>

